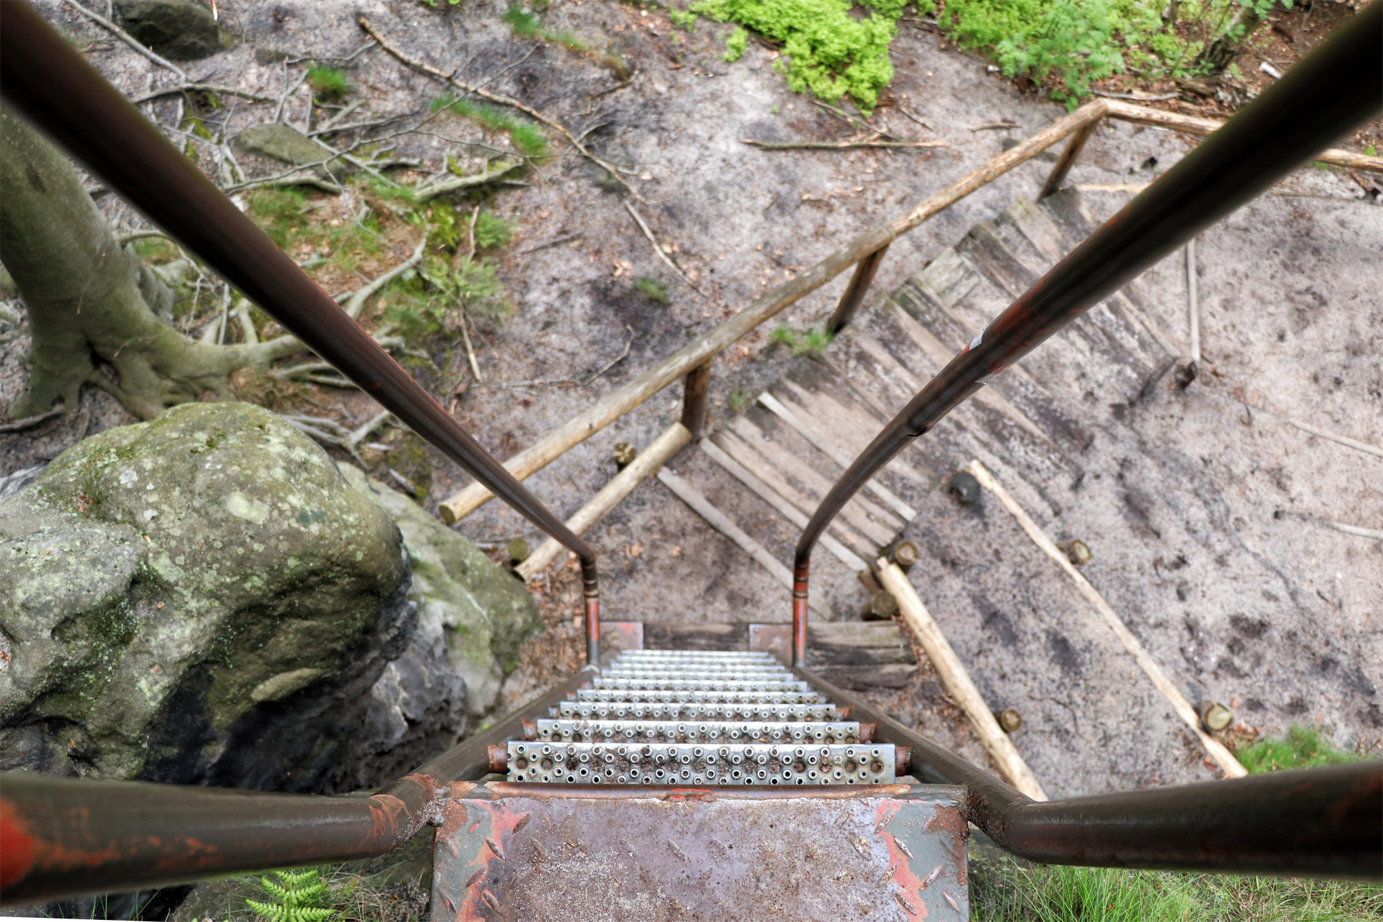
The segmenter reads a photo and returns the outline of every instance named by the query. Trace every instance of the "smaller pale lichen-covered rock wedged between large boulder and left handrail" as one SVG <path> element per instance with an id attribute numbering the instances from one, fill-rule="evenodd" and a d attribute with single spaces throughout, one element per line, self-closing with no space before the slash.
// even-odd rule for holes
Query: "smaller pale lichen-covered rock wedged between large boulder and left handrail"
<path id="1" fill-rule="evenodd" d="M 519 645 L 542 631 L 532 597 L 508 570 L 408 497 L 366 480 L 355 468 L 342 465 L 342 473 L 398 525 L 414 572 L 408 598 L 418 605 L 419 637 L 441 631 L 447 660 L 466 683 L 470 714 L 488 713 L 517 663 Z"/>

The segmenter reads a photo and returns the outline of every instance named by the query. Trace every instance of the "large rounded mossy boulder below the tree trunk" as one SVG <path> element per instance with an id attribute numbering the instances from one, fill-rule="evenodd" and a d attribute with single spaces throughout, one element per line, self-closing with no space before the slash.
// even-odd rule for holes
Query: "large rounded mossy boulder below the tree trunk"
<path id="1" fill-rule="evenodd" d="M 390 516 L 266 410 L 86 439 L 0 501 L 0 770 L 358 784 L 408 584 Z"/>

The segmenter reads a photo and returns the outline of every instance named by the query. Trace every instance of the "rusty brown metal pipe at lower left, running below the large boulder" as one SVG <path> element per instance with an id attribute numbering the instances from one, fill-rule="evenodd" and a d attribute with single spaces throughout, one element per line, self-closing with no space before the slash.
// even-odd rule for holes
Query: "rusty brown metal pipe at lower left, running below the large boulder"
<path id="1" fill-rule="evenodd" d="M 0 905 L 384 854 L 441 821 L 451 782 L 491 771 L 491 745 L 592 676 L 582 669 L 368 797 L 3 774 Z"/>

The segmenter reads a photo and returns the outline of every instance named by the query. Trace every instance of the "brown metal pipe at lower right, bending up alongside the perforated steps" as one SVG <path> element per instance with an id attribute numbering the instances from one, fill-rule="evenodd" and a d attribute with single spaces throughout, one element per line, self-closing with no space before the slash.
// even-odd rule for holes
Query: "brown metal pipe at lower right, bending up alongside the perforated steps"
<path id="1" fill-rule="evenodd" d="M 1037 802 L 820 676 L 792 671 L 851 720 L 874 723 L 874 739 L 906 750 L 918 781 L 965 785 L 967 818 L 1022 858 L 1358 880 L 1383 872 L 1383 761 Z"/>

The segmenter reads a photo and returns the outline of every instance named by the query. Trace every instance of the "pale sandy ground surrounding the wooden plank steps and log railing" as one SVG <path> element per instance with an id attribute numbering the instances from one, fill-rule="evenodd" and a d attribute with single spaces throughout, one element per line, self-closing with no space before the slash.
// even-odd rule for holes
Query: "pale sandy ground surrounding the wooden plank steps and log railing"
<path id="1" fill-rule="evenodd" d="M 635 64 L 633 79 L 618 87 L 607 71 L 563 48 L 513 40 L 499 21 L 503 3 L 465 10 L 430 10 L 401 0 L 232 0 L 220 6 L 227 28 L 243 39 L 232 50 L 187 64 L 195 79 L 278 94 L 286 65 L 256 64 L 254 51 L 349 55 L 366 40 L 354 22 L 360 11 L 409 54 L 447 71 L 459 66 L 472 82 L 492 80 L 491 89 L 523 98 L 573 130 L 592 129 L 589 141 L 602 156 L 635 170 L 631 181 L 649 202 L 640 210 L 705 295 L 687 288 L 654 256 L 621 198 L 602 188 L 596 170 L 579 158 L 544 168 L 527 188 L 499 192 L 496 210 L 521 224 L 501 273 L 516 311 L 477 343 L 485 381 L 472 383 L 458 418 L 501 458 L 822 259 L 851 234 L 906 209 L 1062 112 L 1019 93 L 987 72 L 983 61 L 938 36 L 904 28 L 893 46 L 892 93 L 929 127 L 924 130 L 896 107 L 880 109 L 878 118 L 900 136 L 935 138 L 946 147 L 763 152 L 740 138 L 834 140 L 852 129 L 792 94 L 772 71 L 770 48 L 751 43 L 741 61 L 723 62 L 725 26 L 703 22 L 687 36 L 675 33 L 657 12 L 625 4 L 573 0 L 556 6 L 548 22 L 609 37 Z M 79 44 L 95 42 L 91 60 L 123 90 L 141 91 L 151 79 L 169 79 L 69 8 L 40 7 Z M 379 48 L 353 58 L 347 72 L 371 100 L 373 115 L 420 112 L 443 93 L 440 84 Z M 270 120 L 272 108 L 238 104 L 227 116 L 228 134 Z M 1011 129 L 986 127 L 1004 119 L 1012 122 Z M 400 144 L 402 154 L 420 156 L 431 168 L 448 152 L 437 137 L 400 138 Z M 1174 163 L 1188 144 L 1171 133 L 1106 123 L 1070 181 L 1145 183 Z M 896 242 L 880 270 L 877 291 L 892 289 L 976 222 L 1030 197 L 1050 161 L 1048 155 L 1014 170 Z M 1368 749 L 1383 735 L 1376 691 L 1383 683 L 1383 543 L 1342 533 L 1319 519 L 1383 527 L 1377 487 L 1383 458 L 1308 436 L 1282 417 L 1383 444 L 1377 338 L 1383 328 L 1377 282 L 1383 212 L 1361 198 L 1355 183 L 1322 170 L 1300 170 L 1279 191 L 1293 195 L 1265 197 L 1202 237 L 1205 357 L 1196 382 L 1185 390 L 1159 388 L 1134 407 L 1111 407 L 1098 395 L 1069 395 L 1088 414 L 1097 439 L 1080 458 L 1088 472 L 1082 491 L 1064 505 L 1059 521 L 1043 525 L 1086 537 L 1095 550 L 1091 579 L 1188 695 L 1203 689 L 1235 703 L 1242 718 L 1265 732 L 1321 721 L 1337 745 Z M 1109 191 L 1088 197 L 1105 210 L 1123 201 Z M 133 226 L 134 216 L 118 204 L 106 201 L 104 208 Z M 524 252 L 566 237 L 571 239 Z M 638 277 L 665 282 L 671 303 L 660 306 L 638 295 L 632 287 Z M 820 325 L 844 284 L 839 278 L 827 285 L 781 320 L 794 328 Z M 1169 257 L 1142 285 L 1164 328 L 1181 342 L 1184 257 Z M 711 425 L 730 413 L 732 392 L 758 393 L 781 374 L 788 359 L 781 349 L 768 349 L 772 327 L 716 361 Z M 628 354 L 588 385 L 521 383 L 584 381 L 626 346 Z M 6 403 L 22 388 L 25 350 L 24 336 L 0 346 L 0 399 Z M 373 413 L 358 396 L 328 392 L 324 400 L 339 407 L 343 422 L 355 424 Z M 680 389 L 674 386 L 531 478 L 528 486 L 568 515 L 614 473 L 613 446 L 647 444 L 678 417 L 679 404 Z M 0 433 L 0 469 L 51 458 L 83 433 L 129 421 L 104 395 L 90 395 L 83 406 L 83 414 L 46 429 Z M 700 464 L 704 458 L 687 451 L 672 467 L 694 476 Z M 436 460 L 430 503 L 463 483 L 463 475 Z M 523 536 L 537 545 L 539 537 L 498 504 L 459 527 L 484 543 Z M 786 591 L 661 485 L 639 487 L 588 537 L 602 554 L 607 617 L 761 622 L 788 616 Z M 786 559 L 784 548 L 794 537 L 783 523 L 770 550 Z M 1021 543 L 1012 534 L 994 540 L 1004 547 Z M 813 588 L 838 612 L 859 611 L 863 590 L 844 568 L 819 557 Z M 1036 568 L 1040 561 L 1029 563 Z M 913 579 L 920 590 L 927 588 L 925 575 L 914 570 Z M 563 597 L 560 587 L 553 597 Z M 996 700 L 1017 695 L 1004 687 L 1001 674 L 981 667 L 981 652 L 993 641 L 965 620 L 971 616 L 957 609 L 946 627 L 956 633 L 963 656 L 976 658 L 976 681 Z M 550 612 L 550 620 L 560 623 L 560 612 Z M 563 631 L 570 631 L 570 622 Z M 1041 647 L 1028 656 L 1057 689 L 1046 696 L 1061 698 L 1064 684 L 1073 681 L 1062 671 L 1061 658 Z M 953 712 L 946 718 L 943 700 L 927 703 L 920 685 L 910 694 L 911 699 L 895 695 L 893 706 L 911 709 L 916 723 L 943 739 L 965 735 L 954 728 Z M 1041 696 L 1041 689 L 1033 695 Z M 1064 710 L 1059 705 L 1030 707 L 1043 714 Z M 1055 725 L 1057 718 L 1048 723 Z M 1062 778 L 1062 793 L 1203 771 L 1185 746 L 1173 753 L 1180 743 L 1140 738 L 1137 727 L 1127 728 L 1126 745 L 1141 766 L 1155 767 L 1159 760 L 1170 766 L 1176 759 L 1189 768 L 1160 774 L 1148 768 L 1129 777 L 1095 754 L 1098 741 L 1082 741 L 1076 730 L 1061 732 L 1076 742 L 1054 749 L 1057 761 L 1043 768 Z"/>

